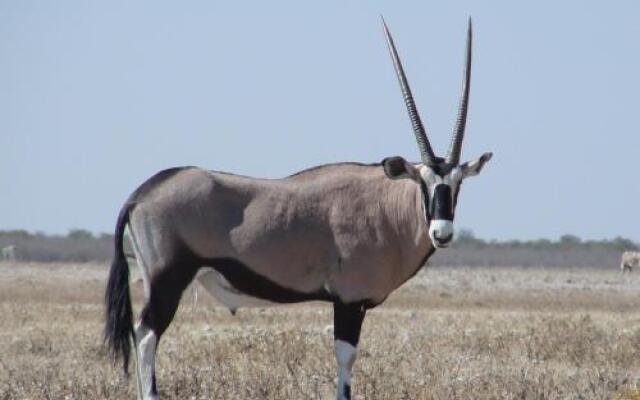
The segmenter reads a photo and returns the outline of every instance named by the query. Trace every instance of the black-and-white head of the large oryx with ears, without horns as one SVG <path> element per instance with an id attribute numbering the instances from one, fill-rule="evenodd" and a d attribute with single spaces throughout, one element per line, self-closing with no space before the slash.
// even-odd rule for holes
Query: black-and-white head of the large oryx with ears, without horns
<path id="1" fill-rule="evenodd" d="M 453 240 L 453 219 L 462 181 L 478 175 L 491 157 L 492 153 L 485 153 L 474 161 L 460 165 L 443 163 L 435 167 L 424 164 L 414 166 L 402 157 L 391 157 L 383 161 L 383 166 L 391 179 L 407 178 L 420 184 L 429 238 L 435 247 L 444 248 Z"/>

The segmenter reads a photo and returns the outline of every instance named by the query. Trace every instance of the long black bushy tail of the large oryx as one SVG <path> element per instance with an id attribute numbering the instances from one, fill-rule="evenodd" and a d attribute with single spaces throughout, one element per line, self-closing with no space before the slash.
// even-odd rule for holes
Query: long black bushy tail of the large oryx
<path id="1" fill-rule="evenodd" d="M 133 311 L 129 294 L 129 265 L 123 249 L 124 228 L 129 222 L 132 204 L 120 210 L 115 232 L 115 252 L 109 271 L 109 281 L 104 295 L 105 326 L 104 341 L 115 359 L 122 357 L 122 368 L 129 374 L 129 355 L 133 333 Z"/>

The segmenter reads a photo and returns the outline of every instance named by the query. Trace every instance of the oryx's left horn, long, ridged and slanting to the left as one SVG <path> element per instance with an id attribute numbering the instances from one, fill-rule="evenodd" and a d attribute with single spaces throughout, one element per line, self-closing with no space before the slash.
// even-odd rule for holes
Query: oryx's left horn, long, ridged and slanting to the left
<path id="1" fill-rule="evenodd" d="M 431 148 L 429 139 L 427 138 L 427 133 L 424 129 L 424 125 L 422 125 L 422 121 L 420 120 L 420 115 L 418 114 L 416 103 L 415 101 L 413 101 L 413 95 L 411 94 L 411 88 L 409 87 L 407 77 L 404 74 L 404 69 L 402 68 L 402 64 L 400 63 L 400 58 L 398 57 L 398 51 L 396 50 L 396 46 L 393 44 L 393 38 L 391 38 L 389 28 L 387 28 L 387 24 L 384 21 L 384 18 L 382 18 L 382 26 L 384 27 L 384 34 L 387 38 L 389 53 L 391 54 L 391 59 L 393 60 L 393 67 L 396 70 L 396 75 L 398 76 L 398 81 L 400 82 L 402 97 L 404 98 L 404 103 L 407 105 L 407 111 L 409 112 L 409 118 L 411 119 L 413 133 L 416 135 L 416 141 L 418 142 L 418 147 L 420 148 L 422 162 L 427 165 L 434 165 L 436 164 L 436 156 L 433 152 L 433 149 Z"/>

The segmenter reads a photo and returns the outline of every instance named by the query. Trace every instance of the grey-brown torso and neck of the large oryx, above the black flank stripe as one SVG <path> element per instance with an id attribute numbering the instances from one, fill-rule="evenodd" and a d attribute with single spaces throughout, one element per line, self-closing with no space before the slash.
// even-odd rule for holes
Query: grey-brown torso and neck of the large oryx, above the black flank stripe
<path id="1" fill-rule="evenodd" d="M 284 179 L 186 168 L 136 203 L 129 228 L 151 279 L 182 243 L 287 289 L 378 304 L 433 248 L 419 185 L 388 179 L 380 165 L 327 165 Z"/>

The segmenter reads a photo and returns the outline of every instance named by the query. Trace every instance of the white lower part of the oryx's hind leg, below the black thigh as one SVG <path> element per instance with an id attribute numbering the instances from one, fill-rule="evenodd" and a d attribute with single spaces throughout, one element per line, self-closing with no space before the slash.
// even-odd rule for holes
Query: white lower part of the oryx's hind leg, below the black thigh
<path id="1" fill-rule="evenodd" d="M 155 376 L 157 337 L 153 330 L 143 324 L 136 327 L 136 351 L 138 358 L 139 392 L 143 400 L 157 400 L 153 385 Z"/>

